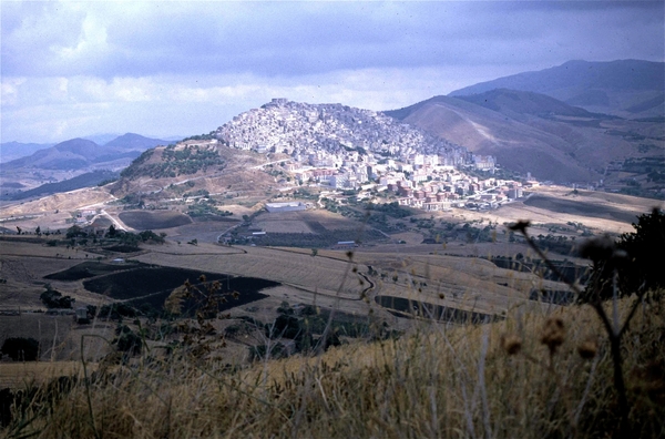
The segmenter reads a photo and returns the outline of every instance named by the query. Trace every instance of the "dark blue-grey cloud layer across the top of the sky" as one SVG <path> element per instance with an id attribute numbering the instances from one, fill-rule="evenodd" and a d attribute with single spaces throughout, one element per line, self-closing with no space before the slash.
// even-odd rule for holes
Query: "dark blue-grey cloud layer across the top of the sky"
<path id="1" fill-rule="evenodd" d="M 608 47 L 616 32 L 640 44 L 622 43 L 636 52 L 615 58 L 653 59 L 663 52 L 662 41 L 641 39 L 653 32 L 649 27 L 662 27 L 659 2 L 206 2 L 144 3 L 123 11 L 124 4 L 74 11 L 62 17 L 60 32 L 48 24 L 42 30 L 52 14 L 59 17 L 57 4 L 27 8 L 32 16 L 21 24 L 13 14 L 24 8 L 12 8 L 2 29 L 9 41 L 2 50 L 6 74 L 299 75 L 534 58 L 559 62 L 608 55 L 616 50 Z"/>

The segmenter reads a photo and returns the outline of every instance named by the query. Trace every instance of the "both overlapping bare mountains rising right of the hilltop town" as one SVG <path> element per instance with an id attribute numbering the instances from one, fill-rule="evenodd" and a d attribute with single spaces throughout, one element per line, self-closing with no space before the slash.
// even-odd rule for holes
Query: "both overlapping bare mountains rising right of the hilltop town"
<path id="1" fill-rule="evenodd" d="M 612 163 L 663 157 L 665 118 L 657 102 L 664 71 L 665 63 L 647 61 L 571 61 L 386 114 L 477 154 L 494 155 L 501 166 L 522 174 L 559 183 L 598 181 Z M 593 94 L 606 98 L 602 105 L 591 100 L 573 105 Z M 637 108 L 643 111 L 628 112 Z"/>

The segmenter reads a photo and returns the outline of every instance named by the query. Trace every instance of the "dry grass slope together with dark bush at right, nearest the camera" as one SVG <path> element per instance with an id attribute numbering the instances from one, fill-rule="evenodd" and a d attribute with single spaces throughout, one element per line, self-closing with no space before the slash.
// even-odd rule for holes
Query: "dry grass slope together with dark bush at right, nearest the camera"
<path id="1" fill-rule="evenodd" d="M 653 211 L 617 243 L 590 241 L 583 253 L 593 261 L 591 280 L 585 289 L 567 282 L 575 305 L 543 304 L 538 312 L 522 303 L 505 318 L 467 325 L 437 320 L 422 306 L 399 338 L 368 327 L 365 339 L 344 345 L 328 343 L 335 337 L 334 313 L 324 325 L 315 307 L 297 319 L 285 304 L 282 338 L 266 337 L 250 364 L 205 349 L 212 326 L 201 313 L 197 331 L 186 333 L 188 343 L 166 354 L 147 344 L 134 350 L 136 336 L 127 349 L 117 341 L 119 353 L 99 364 L 86 363 L 82 354 L 76 378 L 3 390 L 0 432 L 43 438 L 663 437 L 665 289 L 659 266 L 649 258 L 661 255 L 663 246 L 654 243 L 665 237 L 664 218 Z M 565 277 L 528 228 L 526 222 L 511 226 L 552 274 Z M 632 285 L 638 286 L 628 289 Z M 211 292 L 216 288 L 221 285 Z M 303 350 L 307 354 L 276 358 L 272 345 L 288 344 L 290 320 L 296 333 L 316 321 L 323 334 Z M 239 335 L 242 328 L 236 329 Z M 122 340 L 124 329 L 116 335 Z M 82 350 L 85 337 L 93 336 L 82 336 Z M 223 336 L 217 341 L 224 343 Z"/>

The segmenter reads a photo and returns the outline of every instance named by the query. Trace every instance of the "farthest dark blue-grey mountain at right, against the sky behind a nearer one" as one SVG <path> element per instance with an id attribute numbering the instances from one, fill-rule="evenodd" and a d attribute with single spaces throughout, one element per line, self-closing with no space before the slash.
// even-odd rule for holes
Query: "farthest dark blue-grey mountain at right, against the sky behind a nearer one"
<path id="1" fill-rule="evenodd" d="M 591 112 L 631 119 L 665 115 L 663 62 L 570 61 L 551 69 L 481 82 L 449 95 L 480 94 L 494 89 L 543 93 Z"/>

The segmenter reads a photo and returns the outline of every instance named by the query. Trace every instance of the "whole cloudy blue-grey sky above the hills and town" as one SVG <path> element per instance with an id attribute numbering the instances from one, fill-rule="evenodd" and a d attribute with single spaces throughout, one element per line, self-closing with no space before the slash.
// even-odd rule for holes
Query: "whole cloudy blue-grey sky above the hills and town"
<path id="1" fill-rule="evenodd" d="M 14 2 L 1 142 L 207 133 L 272 98 L 390 110 L 570 60 L 664 60 L 664 4 Z"/>

